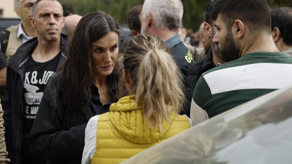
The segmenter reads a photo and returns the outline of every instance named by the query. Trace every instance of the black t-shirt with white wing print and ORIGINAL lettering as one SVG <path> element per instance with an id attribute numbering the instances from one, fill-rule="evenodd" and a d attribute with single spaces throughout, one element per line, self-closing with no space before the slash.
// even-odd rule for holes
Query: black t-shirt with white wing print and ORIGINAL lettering
<path id="1" fill-rule="evenodd" d="M 23 86 L 24 118 L 22 130 L 22 163 L 33 160 L 26 146 L 27 138 L 32 130 L 36 113 L 49 77 L 56 71 L 61 52 L 53 59 L 39 63 L 30 55 L 25 67 Z"/>

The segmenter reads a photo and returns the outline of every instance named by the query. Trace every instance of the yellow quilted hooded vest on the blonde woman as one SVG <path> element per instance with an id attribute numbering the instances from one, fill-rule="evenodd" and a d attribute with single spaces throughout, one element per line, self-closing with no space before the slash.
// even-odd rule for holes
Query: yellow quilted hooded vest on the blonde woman
<path id="1" fill-rule="evenodd" d="M 92 164 L 115 164 L 144 151 L 188 128 L 186 116 L 171 116 L 163 122 L 163 131 L 151 130 L 144 119 L 142 106 L 135 95 L 121 98 L 110 106 L 108 113 L 98 116 L 96 150 Z"/>

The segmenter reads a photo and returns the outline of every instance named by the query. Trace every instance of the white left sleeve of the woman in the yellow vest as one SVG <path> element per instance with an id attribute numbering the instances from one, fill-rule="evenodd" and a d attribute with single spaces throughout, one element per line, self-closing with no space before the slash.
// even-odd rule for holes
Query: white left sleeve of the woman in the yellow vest
<path id="1" fill-rule="evenodd" d="M 82 154 L 82 164 L 91 164 L 91 159 L 96 150 L 96 132 L 98 115 L 91 117 L 85 128 L 85 145 Z"/>

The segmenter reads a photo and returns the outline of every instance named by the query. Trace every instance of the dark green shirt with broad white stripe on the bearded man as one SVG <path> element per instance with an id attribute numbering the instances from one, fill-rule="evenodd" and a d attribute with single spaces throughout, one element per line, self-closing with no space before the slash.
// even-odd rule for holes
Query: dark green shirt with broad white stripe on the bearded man
<path id="1" fill-rule="evenodd" d="M 194 90 L 190 116 L 195 125 L 289 85 L 292 85 L 291 56 L 248 53 L 201 76 Z"/>

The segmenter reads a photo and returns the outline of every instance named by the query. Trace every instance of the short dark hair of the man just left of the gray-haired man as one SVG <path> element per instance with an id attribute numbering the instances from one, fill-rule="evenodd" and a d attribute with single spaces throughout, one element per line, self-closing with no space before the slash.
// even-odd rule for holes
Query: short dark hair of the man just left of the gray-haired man
<path id="1" fill-rule="evenodd" d="M 141 14 L 143 5 L 133 7 L 128 13 L 128 25 L 130 30 L 136 30 L 141 33 L 141 21 L 139 15 Z"/>

